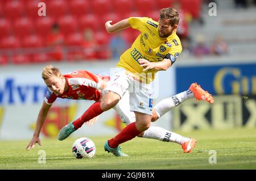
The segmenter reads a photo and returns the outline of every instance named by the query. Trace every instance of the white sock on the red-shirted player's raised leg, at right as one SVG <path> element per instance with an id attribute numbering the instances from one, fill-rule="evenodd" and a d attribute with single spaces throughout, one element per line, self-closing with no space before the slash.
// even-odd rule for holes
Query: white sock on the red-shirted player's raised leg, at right
<path id="1" fill-rule="evenodd" d="M 171 111 L 183 101 L 194 97 L 195 96 L 193 95 L 193 92 L 191 90 L 180 92 L 179 94 L 171 96 L 171 98 L 161 100 L 158 104 L 154 106 L 154 110 L 158 117 L 161 117 L 166 112 Z"/>

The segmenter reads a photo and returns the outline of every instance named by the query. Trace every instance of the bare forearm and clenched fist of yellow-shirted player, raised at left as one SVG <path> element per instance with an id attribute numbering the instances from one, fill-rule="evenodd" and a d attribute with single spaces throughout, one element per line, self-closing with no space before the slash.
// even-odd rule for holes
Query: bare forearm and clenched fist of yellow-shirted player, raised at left
<path id="1" fill-rule="evenodd" d="M 130 27 L 130 23 L 128 19 L 123 19 L 113 25 L 111 23 L 112 23 L 112 20 L 109 20 L 108 22 L 105 23 L 106 31 L 108 31 L 109 33 L 114 33 L 119 30 L 124 30 Z"/>

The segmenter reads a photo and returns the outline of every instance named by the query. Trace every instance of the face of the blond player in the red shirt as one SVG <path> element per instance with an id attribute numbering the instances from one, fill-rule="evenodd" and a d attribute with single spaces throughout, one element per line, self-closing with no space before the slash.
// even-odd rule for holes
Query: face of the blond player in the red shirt
<path id="1" fill-rule="evenodd" d="M 49 88 L 53 91 L 55 95 L 63 94 L 65 89 L 65 78 L 52 76 L 44 81 Z"/>

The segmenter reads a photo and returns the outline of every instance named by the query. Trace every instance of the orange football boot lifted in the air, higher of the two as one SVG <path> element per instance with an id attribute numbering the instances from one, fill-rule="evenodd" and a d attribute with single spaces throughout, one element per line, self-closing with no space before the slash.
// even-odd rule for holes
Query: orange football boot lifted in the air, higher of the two
<path id="1" fill-rule="evenodd" d="M 189 90 L 193 92 L 196 100 L 206 100 L 208 103 L 214 103 L 212 94 L 203 90 L 200 85 L 197 85 L 197 83 L 192 83 Z"/>

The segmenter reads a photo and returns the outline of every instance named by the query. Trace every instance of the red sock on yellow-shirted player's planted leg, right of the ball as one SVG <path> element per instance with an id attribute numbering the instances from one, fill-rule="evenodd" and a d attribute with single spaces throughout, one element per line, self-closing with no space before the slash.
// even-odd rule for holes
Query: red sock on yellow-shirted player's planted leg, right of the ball
<path id="1" fill-rule="evenodd" d="M 109 146 L 111 148 L 116 148 L 119 144 L 135 138 L 139 133 L 142 132 L 138 131 L 135 122 L 131 123 L 127 125 L 127 127 L 123 128 L 123 130 L 117 134 L 117 136 L 109 140 Z"/>

